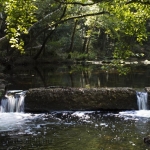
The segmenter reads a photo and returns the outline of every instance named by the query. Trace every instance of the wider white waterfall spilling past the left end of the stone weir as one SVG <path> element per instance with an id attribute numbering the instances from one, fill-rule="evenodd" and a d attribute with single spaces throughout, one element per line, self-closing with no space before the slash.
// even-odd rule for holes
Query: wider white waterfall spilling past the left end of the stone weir
<path id="1" fill-rule="evenodd" d="M 24 99 L 26 91 L 7 91 L 1 99 L 0 112 L 24 112 Z"/>

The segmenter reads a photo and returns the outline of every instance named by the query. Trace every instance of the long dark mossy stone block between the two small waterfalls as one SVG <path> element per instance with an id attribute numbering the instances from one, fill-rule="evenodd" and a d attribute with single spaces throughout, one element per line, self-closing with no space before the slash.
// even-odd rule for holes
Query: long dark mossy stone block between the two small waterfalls
<path id="1" fill-rule="evenodd" d="M 132 88 L 35 88 L 25 98 L 25 112 L 133 109 L 138 106 Z"/>

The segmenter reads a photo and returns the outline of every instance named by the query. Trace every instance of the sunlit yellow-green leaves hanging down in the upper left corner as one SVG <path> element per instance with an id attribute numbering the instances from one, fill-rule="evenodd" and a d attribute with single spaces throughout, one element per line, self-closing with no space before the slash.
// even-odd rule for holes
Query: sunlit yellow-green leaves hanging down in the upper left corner
<path id="1" fill-rule="evenodd" d="M 34 12 L 37 9 L 35 0 L 5 0 L 3 4 L 6 18 L 6 34 L 11 47 L 24 52 L 23 34 L 28 34 L 29 27 L 36 21 Z"/>

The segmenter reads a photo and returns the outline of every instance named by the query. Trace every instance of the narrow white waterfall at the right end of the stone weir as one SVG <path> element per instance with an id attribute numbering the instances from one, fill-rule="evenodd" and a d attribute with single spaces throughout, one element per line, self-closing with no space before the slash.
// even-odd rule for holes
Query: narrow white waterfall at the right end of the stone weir
<path id="1" fill-rule="evenodd" d="M 136 96 L 137 96 L 137 104 L 138 104 L 139 110 L 147 110 L 148 109 L 147 92 L 136 92 Z"/>

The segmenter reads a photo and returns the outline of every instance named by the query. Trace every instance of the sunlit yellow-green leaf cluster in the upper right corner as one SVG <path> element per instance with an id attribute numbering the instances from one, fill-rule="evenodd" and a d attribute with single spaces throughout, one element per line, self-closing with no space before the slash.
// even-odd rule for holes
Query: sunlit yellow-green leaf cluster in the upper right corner
<path id="1" fill-rule="evenodd" d="M 150 18 L 149 8 L 149 5 L 142 3 L 115 0 L 112 5 L 108 5 L 111 18 L 115 20 L 113 31 L 119 34 L 119 38 L 123 34 L 135 36 L 138 42 L 146 40 L 148 34 L 145 25 Z M 110 29 L 107 33 L 114 35 Z"/>

